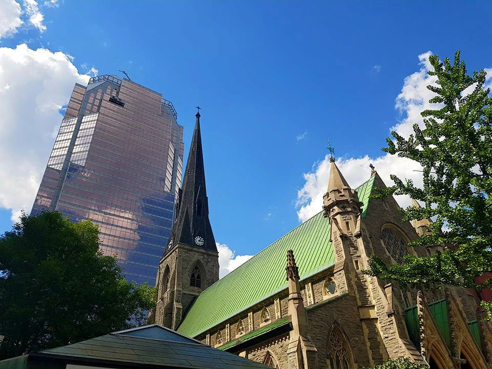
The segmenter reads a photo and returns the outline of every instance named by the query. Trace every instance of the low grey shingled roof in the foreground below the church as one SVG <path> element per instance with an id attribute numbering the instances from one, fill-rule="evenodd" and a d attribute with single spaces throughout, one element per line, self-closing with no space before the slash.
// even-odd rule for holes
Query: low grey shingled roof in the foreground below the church
<path id="1" fill-rule="evenodd" d="M 158 330 L 161 330 L 161 333 Z M 148 334 L 149 332 L 150 334 Z M 160 336 L 166 339 L 138 337 L 139 335 Z M 75 358 L 77 361 L 113 361 L 116 365 L 117 363 L 133 363 L 137 365 L 155 365 L 157 367 L 196 369 L 268 367 L 261 363 L 217 350 L 156 324 L 52 348 L 34 355 L 45 359 L 66 357 L 71 360 Z"/>

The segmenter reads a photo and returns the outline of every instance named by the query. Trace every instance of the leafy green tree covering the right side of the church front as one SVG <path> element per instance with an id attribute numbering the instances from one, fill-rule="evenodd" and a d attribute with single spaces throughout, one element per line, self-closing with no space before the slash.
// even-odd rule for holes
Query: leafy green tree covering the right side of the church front
<path id="1" fill-rule="evenodd" d="M 457 51 L 452 64 L 429 57 L 436 85 L 429 103 L 436 109 L 421 113 L 424 126 L 414 125 L 414 133 L 404 138 L 392 132 L 383 151 L 419 162 L 423 168 L 423 188 L 411 180 L 391 178 L 395 186 L 379 189 L 376 197 L 408 195 L 425 203 L 420 208 L 401 209 L 404 220 L 435 217 L 429 230 L 411 245 L 444 245 L 443 253 L 415 257 L 403 264 L 385 265 L 376 256 L 368 274 L 397 280 L 404 288 L 432 289 L 441 284 L 475 288 L 492 284 L 475 279 L 492 270 L 492 99 L 485 88 L 486 73 L 468 75 Z M 483 304 L 490 314 L 490 304 Z"/>

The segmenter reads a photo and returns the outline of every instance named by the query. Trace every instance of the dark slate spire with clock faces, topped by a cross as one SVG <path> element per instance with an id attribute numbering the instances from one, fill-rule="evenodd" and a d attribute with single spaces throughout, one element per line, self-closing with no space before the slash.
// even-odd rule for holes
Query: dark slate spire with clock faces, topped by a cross
<path id="1" fill-rule="evenodd" d="M 195 131 L 186 163 L 183 186 L 176 202 L 171 237 L 166 252 L 177 243 L 217 251 L 209 221 L 209 201 L 205 187 L 201 147 L 200 112 L 196 113 Z"/>

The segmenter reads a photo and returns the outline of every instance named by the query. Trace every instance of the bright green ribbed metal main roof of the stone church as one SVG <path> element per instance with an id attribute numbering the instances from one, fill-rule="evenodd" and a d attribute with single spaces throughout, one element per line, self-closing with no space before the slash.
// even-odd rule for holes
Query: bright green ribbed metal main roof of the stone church
<path id="1" fill-rule="evenodd" d="M 364 203 L 363 217 L 373 183 L 374 176 L 357 188 L 359 200 Z M 287 286 L 286 255 L 290 249 L 294 251 L 301 279 L 333 265 L 330 221 L 323 217 L 323 212 L 300 224 L 198 295 L 177 332 L 196 337 L 284 290 Z"/>

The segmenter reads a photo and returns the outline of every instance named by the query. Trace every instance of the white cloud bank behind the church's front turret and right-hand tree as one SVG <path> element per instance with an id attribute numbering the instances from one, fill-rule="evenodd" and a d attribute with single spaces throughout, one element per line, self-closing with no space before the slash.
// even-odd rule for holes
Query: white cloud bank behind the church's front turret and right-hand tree
<path id="1" fill-rule="evenodd" d="M 420 113 L 425 109 L 438 107 L 428 103 L 433 96 L 433 92 L 427 89 L 427 85 L 432 85 L 436 81 L 435 76 L 429 76 L 427 72 L 432 68 L 428 57 L 432 52 L 419 55 L 420 70 L 405 77 L 401 93 L 396 98 L 395 108 L 400 112 L 403 119 L 391 131 L 396 131 L 404 137 L 413 133 L 413 125 L 423 125 Z M 323 194 L 328 186 L 330 175 L 329 156 L 321 162 L 315 162 L 313 169 L 309 173 L 304 173 L 304 186 L 297 193 L 297 216 L 300 221 L 305 221 L 321 211 L 323 205 Z M 378 174 L 381 176 L 386 186 L 394 183 L 389 178 L 390 174 L 395 174 L 399 178 L 408 178 L 414 181 L 418 187 L 422 186 L 421 166 L 412 160 L 401 158 L 396 155 L 385 154 L 379 157 L 370 158 L 367 155 L 359 158 L 339 158 L 336 161 L 338 168 L 347 180 L 348 184 L 355 188 L 369 179 L 371 170 L 368 167 L 372 163 Z M 408 197 L 397 196 L 396 200 L 402 207 L 411 204 Z"/>

